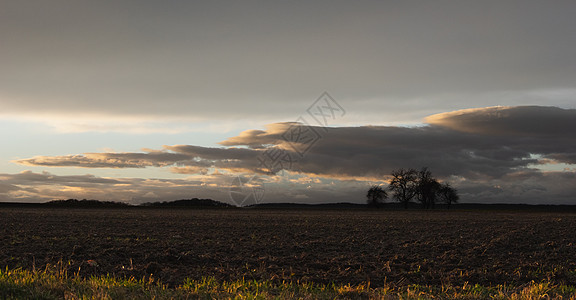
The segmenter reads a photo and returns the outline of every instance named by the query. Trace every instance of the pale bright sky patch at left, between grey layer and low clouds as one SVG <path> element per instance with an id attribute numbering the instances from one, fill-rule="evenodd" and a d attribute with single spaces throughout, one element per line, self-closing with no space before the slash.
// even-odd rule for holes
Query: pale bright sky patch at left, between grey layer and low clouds
<path id="1" fill-rule="evenodd" d="M 198 145 L 221 147 L 217 143 L 238 135 L 245 128 L 223 130 L 190 130 L 178 133 L 60 132 L 38 122 L 0 119 L 0 173 L 24 170 L 47 171 L 57 175 L 93 174 L 106 177 L 182 178 L 166 168 L 82 169 L 32 167 L 13 163 L 34 156 L 76 155 L 88 152 L 142 152 L 142 148 L 161 150 L 163 145 Z"/>

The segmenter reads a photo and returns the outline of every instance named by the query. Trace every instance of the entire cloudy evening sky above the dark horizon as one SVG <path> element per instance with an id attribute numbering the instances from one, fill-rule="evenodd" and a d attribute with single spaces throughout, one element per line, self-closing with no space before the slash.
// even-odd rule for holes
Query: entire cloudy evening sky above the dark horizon
<path id="1" fill-rule="evenodd" d="M 0 0 L 0 201 L 576 204 L 576 2 Z"/>

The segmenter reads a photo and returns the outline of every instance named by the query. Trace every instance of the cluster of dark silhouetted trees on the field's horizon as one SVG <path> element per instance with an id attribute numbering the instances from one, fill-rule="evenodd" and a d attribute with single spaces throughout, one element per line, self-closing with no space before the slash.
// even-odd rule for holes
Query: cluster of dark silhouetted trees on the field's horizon
<path id="1" fill-rule="evenodd" d="M 387 190 L 392 193 L 392 197 L 408 208 L 410 202 L 419 202 L 423 208 L 434 208 L 436 203 L 447 204 L 448 208 L 452 203 L 459 200 L 458 191 L 449 183 L 440 183 L 432 176 L 428 168 L 420 171 L 415 169 L 393 170 L 390 174 L 392 179 Z M 380 207 L 388 198 L 388 192 L 381 186 L 370 187 L 366 194 L 368 205 Z"/>

